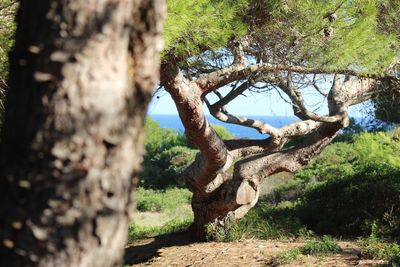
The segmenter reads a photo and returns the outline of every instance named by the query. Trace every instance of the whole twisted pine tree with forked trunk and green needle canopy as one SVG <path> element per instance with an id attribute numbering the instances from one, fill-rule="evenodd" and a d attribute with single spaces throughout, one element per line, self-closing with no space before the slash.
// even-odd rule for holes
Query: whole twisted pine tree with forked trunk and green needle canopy
<path id="1" fill-rule="evenodd" d="M 379 86 L 395 79 L 399 36 L 383 23 L 398 11 L 391 3 L 168 1 L 160 84 L 200 150 L 184 173 L 199 239 L 205 225 L 227 227 L 243 217 L 258 200 L 261 179 L 294 172 L 320 153 L 349 124 L 350 106 L 398 90 Z M 308 108 L 307 90 L 321 95 L 328 114 Z M 249 91 L 279 92 L 299 121 L 275 128 L 230 113 L 229 103 L 245 101 L 240 96 Z M 218 120 L 264 138 L 222 140 L 204 106 Z"/>

